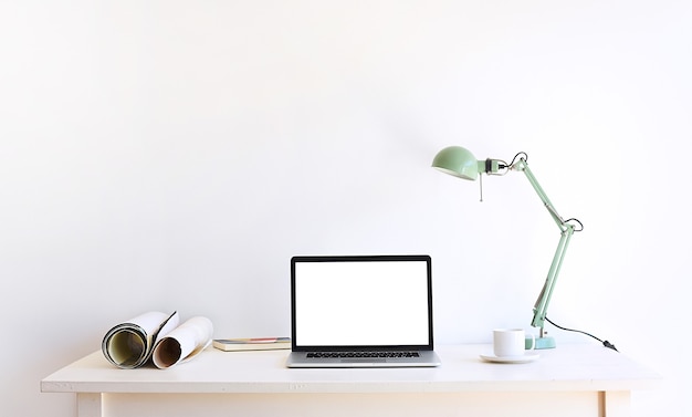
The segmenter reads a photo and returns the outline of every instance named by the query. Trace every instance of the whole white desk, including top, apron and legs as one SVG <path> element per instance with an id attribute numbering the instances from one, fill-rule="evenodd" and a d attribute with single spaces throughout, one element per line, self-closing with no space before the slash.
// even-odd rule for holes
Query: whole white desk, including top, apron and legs
<path id="1" fill-rule="evenodd" d="M 287 351 L 208 348 L 169 369 L 118 369 L 101 351 L 41 382 L 97 416 L 628 416 L 630 392 L 659 379 L 597 344 L 490 364 L 490 345 L 439 346 L 437 368 L 287 369 Z M 547 411 L 547 413 L 546 413 Z"/>

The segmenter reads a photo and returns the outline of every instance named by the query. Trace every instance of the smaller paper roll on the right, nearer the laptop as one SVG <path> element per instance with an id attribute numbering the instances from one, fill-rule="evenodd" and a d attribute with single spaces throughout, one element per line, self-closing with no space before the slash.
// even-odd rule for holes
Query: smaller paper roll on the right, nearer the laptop
<path id="1" fill-rule="evenodd" d="M 168 368 L 197 356 L 211 343 L 213 325 L 207 317 L 196 316 L 165 335 L 154 347 L 154 365 Z"/>

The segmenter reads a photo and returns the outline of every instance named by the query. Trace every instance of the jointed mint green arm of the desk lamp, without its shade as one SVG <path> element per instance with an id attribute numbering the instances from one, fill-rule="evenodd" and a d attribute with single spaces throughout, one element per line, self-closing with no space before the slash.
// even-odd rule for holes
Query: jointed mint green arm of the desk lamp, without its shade
<path id="1" fill-rule="evenodd" d="M 526 178 L 534 187 L 534 190 L 543 201 L 543 205 L 551 213 L 551 217 L 560 229 L 560 238 L 557 243 L 557 249 L 555 250 L 555 256 L 553 257 L 553 263 L 551 263 L 551 269 L 548 270 L 547 278 L 545 280 L 545 284 L 538 294 L 538 299 L 534 304 L 534 316 L 531 322 L 531 325 L 534 327 L 538 327 L 541 330 L 541 337 L 544 336 L 544 325 L 545 317 L 547 315 L 548 304 L 551 302 L 551 298 L 553 296 L 553 290 L 555 289 L 555 282 L 557 281 L 557 275 L 559 274 L 559 270 L 563 265 L 563 260 L 565 259 L 565 253 L 567 252 L 567 247 L 569 246 L 569 240 L 575 232 L 575 226 L 566 222 L 555 210 L 555 207 L 548 199 L 547 195 L 538 184 L 538 180 L 528 168 L 526 164 L 526 159 L 520 158 L 516 164 L 514 164 L 511 169 L 521 170 L 526 175 Z"/>

